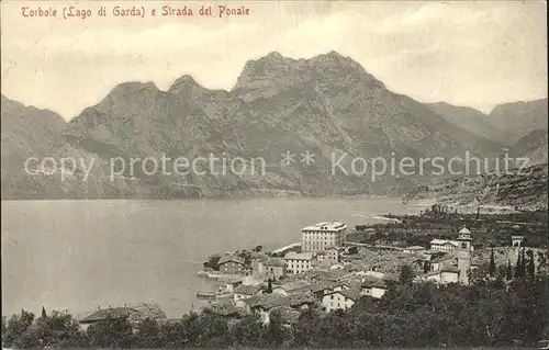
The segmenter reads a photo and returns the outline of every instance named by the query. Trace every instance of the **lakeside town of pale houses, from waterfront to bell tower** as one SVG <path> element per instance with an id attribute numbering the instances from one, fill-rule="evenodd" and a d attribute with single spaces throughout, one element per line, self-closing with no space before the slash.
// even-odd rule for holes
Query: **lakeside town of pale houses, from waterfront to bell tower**
<path id="1" fill-rule="evenodd" d="M 268 324 L 277 311 L 292 323 L 300 311 L 313 305 L 326 313 L 346 311 L 361 296 L 381 298 L 391 285 L 407 280 L 469 285 L 479 273 L 482 278 L 495 274 L 482 271 L 484 266 L 515 266 L 520 257 L 525 259 L 526 250 L 539 271 L 547 269 L 546 250 L 526 248 L 525 236 L 512 235 L 507 247 L 475 252 L 475 235 L 466 226 L 449 233 L 453 239 L 432 239 L 428 248 L 348 241 L 347 225 L 337 221 L 304 227 L 301 234 L 301 242 L 273 252 L 256 247 L 210 257 L 200 274 L 226 283 L 197 296 L 211 298 L 208 309 L 224 317 L 258 314 Z"/>

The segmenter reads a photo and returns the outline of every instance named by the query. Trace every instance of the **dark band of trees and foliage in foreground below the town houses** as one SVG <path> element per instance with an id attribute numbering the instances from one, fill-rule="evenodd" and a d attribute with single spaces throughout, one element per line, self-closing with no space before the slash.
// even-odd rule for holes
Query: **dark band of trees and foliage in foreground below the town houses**
<path id="1" fill-rule="evenodd" d="M 105 320 L 80 330 L 66 313 L 22 311 L 2 320 L 2 345 L 14 348 L 365 348 L 482 347 L 549 339 L 548 278 L 508 284 L 430 283 L 395 286 L 381 300 L 362 297 L 349 311 L 304 311 L 298 324 L 277 315 L 265 326 L 258 316 L 225 319 L 204 312 L 136 327 Z"/>

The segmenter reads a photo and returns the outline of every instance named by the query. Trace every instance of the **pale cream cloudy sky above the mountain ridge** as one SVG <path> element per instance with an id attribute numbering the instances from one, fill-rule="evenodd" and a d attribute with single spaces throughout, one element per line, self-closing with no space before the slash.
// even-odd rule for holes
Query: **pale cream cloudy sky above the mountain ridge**
<path id="1" fill-rule="evenodd" d="M 249 8 L 219 18 L 217 5 Z M 167 90 L 183 75 L 231 90 L 245 63 L 270 52 L 311 58 L 336 50 L 399 93 L 489 113 L 496 104 L 547 97 L 547 18 L 540 1 L 2 1 L 1 91 L 66 120 L 116 84 L 153 81 Z M 23 18 L 22 7 L 57 18 Z M 63 19 L 64 7 L 89 9 Z M 97 15 L 104 5 L 108 16 Z M 145 18 L 112 10 L 143 7 Z M 193 16 L 152 16 L 163 5 Z M 198 16 L 211 5 L 213 16 Z"/>

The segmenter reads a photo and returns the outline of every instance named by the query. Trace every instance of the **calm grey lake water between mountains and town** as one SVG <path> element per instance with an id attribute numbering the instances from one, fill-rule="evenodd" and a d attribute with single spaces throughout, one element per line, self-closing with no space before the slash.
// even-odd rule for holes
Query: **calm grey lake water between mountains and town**
<path id="1" fill-rule="evenodd" d="M 349 227 L 410 212 L 399 199 L 2 201 L 2 314 L 156 302 L 180 317 L 203 301 L 208 256 L 301 239 L 337 219 Z"/>

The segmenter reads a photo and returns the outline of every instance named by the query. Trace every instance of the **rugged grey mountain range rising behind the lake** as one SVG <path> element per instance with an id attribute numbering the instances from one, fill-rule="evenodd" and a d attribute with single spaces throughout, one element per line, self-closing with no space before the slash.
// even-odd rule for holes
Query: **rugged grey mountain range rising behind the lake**
<path id="1" fill-rule="evenodd" d="M 547 99 L 540 101 L 504 104 L 488 116 L 424 104 L 388 90 L 335 52 L 311 59 L 270 53 L 249 60 L 229 91 L 208 90 L 190 76 L 167 91 L 152 82 L 124 82 L 68 123 L 2 95 L 2 197 L 402 194 L 433 178 L 385 173 L 372 180 L 371 170 L 351 171 L 352 159 L 453 157 L 466 150 L 495 157 L 511 146 L 509 137 L 518 140 L 540 129 L 515 149 L 528 154 L 544 147 L 544 131 L 547 147 L 547 121 L 544 126 L 538 116 L 547 118 Z M 527 117 L 528 125 L 520 122 L 513 128 L 513 115 Z M 501 127 L 490 126 L 500 118 Z M 306 151 L 314 154 L 313 161 L 302 161 Z M 181 177 L 142 168 L 147 157 L 192 160 L 211 154 L 240 157 L 248 171 L 219 174 L 210 167 Z M 284 154 L 294 155 L 293 161 L 281 163 Z M 70 168 L 74 174 L 63 178 L 59 163 L 37 174 L 23 171 L 24 159 L 46 156 L 79 161 Z M 128 163 L 137 158 L 133 171 L 126 167 L 111 177 L 112 159 Z M 249 171 L 257 158 L 267 165 L 262 174 Z M 334 159 L 343 159 L 336 171 Z M 86 167 L 90 163 L 91 170 Z"/>

